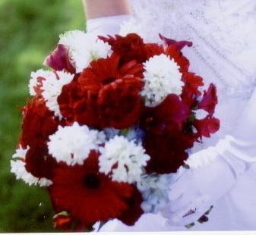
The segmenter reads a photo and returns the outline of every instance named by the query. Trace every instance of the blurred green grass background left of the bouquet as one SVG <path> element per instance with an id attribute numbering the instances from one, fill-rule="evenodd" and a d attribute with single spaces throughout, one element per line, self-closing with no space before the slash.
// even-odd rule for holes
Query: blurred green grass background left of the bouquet
<path id="1" fill-rule="evenodd" d="M 0 233 L 54 232 L 46 189 L 10 173 L 30 72 L 43 67 L 58 35 L 84 30 L 81 0 L 0 0 Z"/>

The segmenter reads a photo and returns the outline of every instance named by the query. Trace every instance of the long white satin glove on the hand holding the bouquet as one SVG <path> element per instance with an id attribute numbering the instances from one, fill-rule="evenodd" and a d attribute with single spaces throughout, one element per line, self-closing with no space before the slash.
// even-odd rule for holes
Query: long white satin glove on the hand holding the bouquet
<path id="1" fill-rule="evenodd" d="M 170 183 L 169 204 L 161 211 L 170 225 L 191 224 L 225 196 L 239 175 L 256 161 L 256 92 L 232 136 L 192 154 Z"/>

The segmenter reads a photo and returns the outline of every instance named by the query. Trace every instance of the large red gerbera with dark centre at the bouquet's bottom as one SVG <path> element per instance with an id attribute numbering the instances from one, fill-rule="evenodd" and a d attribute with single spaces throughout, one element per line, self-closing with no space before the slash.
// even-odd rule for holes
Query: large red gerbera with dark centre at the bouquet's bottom
<path id="1" fill-rule="evenodd" d="M 55 211 L 67 211 L 81 225 L 92 227 L 96 221 L 122 216 L 129 208 L 134 188 L 112 181 L 99 173 L 98 154 L 91 152 L 83 165 L 60 164 L 55 169 L 49 193 Z"/>

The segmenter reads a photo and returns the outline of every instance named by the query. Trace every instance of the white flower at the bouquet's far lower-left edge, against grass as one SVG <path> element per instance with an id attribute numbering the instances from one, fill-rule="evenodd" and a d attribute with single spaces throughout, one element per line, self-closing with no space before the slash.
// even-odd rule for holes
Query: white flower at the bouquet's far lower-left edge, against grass
<path id="1" fill-rule="evenodd" d="M 40 186 L 49 186 L 52 184 L 51 180 L 48 180 L 46 178 L 38 178 L 34 177 L 33 174 L 30 172 L 27 172 L 25 168 L 25 157 L 27 154 L 29 147 L 27 149 L 22 149 L 21 146 L 19 149 L 16 149 L 16 152 L 14 155 L 12 155 L 12 158 L 19 158 L 17 160 L 11 160 L 11 172 L 16 175 L 17 180 L 21 179 L 24 180 L 25 183 L 28 185 L 36 185 L 37 183 Z"/>

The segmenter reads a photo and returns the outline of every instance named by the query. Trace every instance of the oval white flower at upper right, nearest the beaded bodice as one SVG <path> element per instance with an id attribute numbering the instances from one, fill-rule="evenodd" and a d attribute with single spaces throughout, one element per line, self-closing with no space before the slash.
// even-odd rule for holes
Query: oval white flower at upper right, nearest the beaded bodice
<path id="1" fill-rule="evenodd" d="M 144 63 L 144 89 L 141 96 L 145 98 L 145 105 L 154 107 L 163 102 L 169 94 L 182 93 L 182 74 L 179 65 L 167 55 L 154 55 Z"/>

